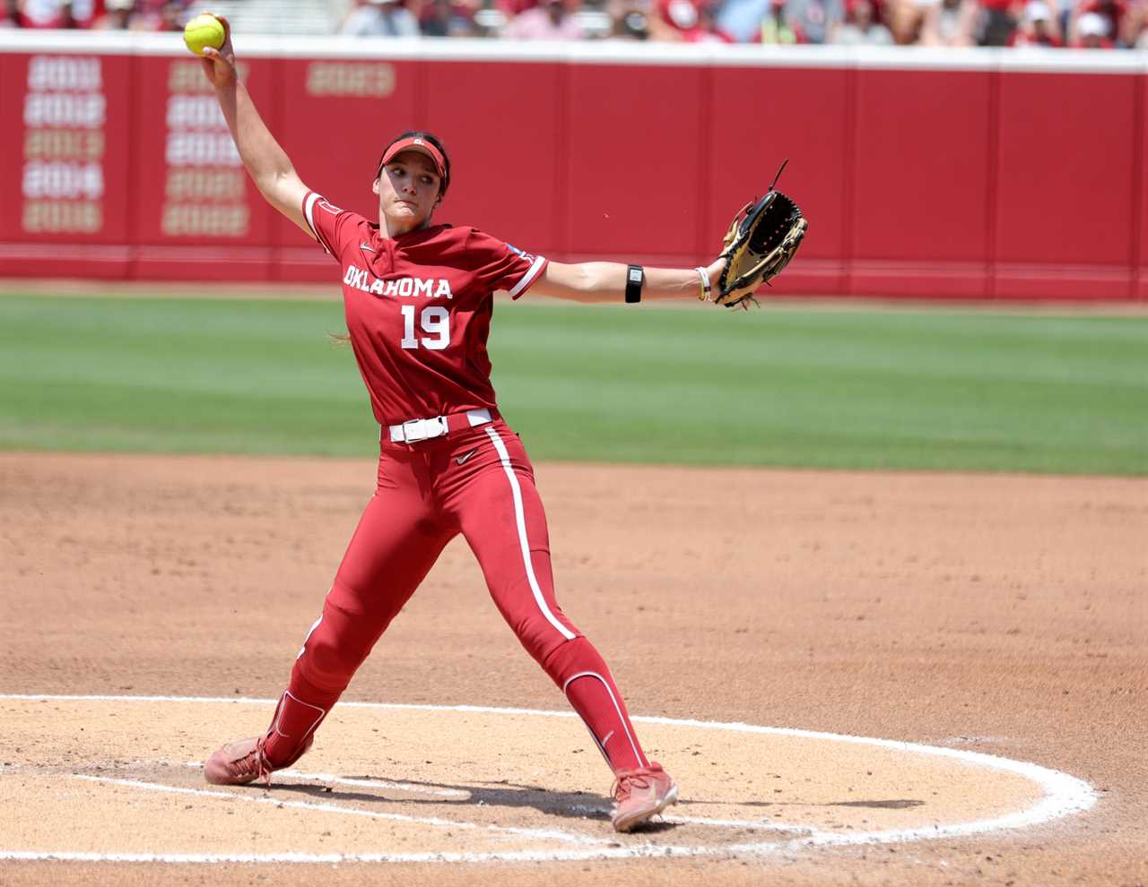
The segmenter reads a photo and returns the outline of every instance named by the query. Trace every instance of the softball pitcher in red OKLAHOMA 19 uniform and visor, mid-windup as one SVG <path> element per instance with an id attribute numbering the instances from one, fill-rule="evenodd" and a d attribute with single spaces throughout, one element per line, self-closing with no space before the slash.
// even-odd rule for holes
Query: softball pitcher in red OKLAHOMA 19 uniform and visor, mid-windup
<path id="1" fill-rule="evenodd" d="M 610 669 L 554 598 L 534 470 L 490 386 L 492 294 L 587 302 L 706 295 L 722 260 L 684 271 L 564 265 L 475 228 L 432 224 L 450 185 L 450 159 L 425 132 L 404 133 L 383 149 L 372 185 L 379 221 L 369 221 L 300 180 L 235 77 L 230 29 L 220 50 L 204 55 L 259 192 L 340 264 L 350 344 L 381 426 L 375 495 L 271 725 L 211 755 L 207 780 L 270 783 L 273 770 L 298 760 L 443 546 L 463 534 L 499 612 L 613 770 L 614 827 L 634 828 L 674 803 L 677 786 L 646 758 Z"/>

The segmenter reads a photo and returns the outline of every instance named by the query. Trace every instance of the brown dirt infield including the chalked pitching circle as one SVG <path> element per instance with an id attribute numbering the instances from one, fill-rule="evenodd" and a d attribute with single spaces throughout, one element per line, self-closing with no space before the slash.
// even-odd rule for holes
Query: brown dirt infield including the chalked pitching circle
<path id="1" fill-rule="evenodd" d="M 682 784 L 620 837 L 459 542 L 311 754 L 203 784 L 373 476 L 0 454 L 0 884 L 1148 880 L 1148 481 L 540 466 L 559 600 Z"/>

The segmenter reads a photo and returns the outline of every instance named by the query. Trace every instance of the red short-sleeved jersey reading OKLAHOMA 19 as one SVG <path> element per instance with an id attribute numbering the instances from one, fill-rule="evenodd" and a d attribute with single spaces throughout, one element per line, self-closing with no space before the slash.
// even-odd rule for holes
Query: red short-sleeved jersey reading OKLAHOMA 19
<path id="1" fill-rule="evenodd" d="M 544 257 L 470 227 L 387 238 L 315 192 L 303 217 L 343 270 L 347 330 L 379 425 L 496 409 L 487 356 L 494 293 L 521 296 Z"/>

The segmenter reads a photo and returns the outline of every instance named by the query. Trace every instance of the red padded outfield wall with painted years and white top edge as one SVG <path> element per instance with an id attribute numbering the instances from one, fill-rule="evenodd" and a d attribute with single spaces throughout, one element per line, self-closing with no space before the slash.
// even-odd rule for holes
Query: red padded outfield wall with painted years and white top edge
<path id="1" fill-rule="evenodd" d="M 1148 301 L 1142 54 L 267 38 L 238 52 L 303 180 L 372 217 L 381 145 L 426 127 L 453 161 L 442 220 L 554 258 L 693 265 L 789 157 L 782 186 L 810 232 L 777 294 Z M 18 195 L 0 217 L 2 275 L 335 279 L 250 186 L 178 38 L 2 33 L 0 119 L 3 193 Z"/>

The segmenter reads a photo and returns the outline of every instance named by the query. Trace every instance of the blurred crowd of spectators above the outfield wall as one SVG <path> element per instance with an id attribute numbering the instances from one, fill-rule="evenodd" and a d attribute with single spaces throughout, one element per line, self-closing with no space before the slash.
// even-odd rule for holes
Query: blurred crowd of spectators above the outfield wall
<path id="1" fill-rule="evenodd" d="M 0 2 L 0 28 L 174 31 L 193 14 L 193 0 Z M 335 7 L 324 30 L 357 37 L 507 40 L 1148 48 L 1148 0 L 344 2 L 350 6 Z"/>

